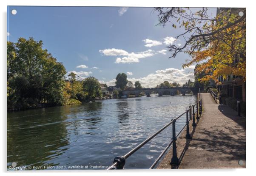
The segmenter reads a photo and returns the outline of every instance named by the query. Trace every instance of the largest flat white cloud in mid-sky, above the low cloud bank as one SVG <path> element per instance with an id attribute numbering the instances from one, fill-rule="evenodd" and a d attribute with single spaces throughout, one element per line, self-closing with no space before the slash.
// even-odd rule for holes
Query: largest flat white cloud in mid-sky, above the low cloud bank
<path id="1" fill-rule="evenodd" d="M 155 55 L 156 53 L 153 50 L 146 50 L 142 52 L 131 52 L 128 53 L 125 50 L 119 50 L 119 49 L 105 49 L 105 50 L 99 50 L 99 52 L 103 53 L 107 56 L 125 56 L 125 57 L 118 57 L 115 61 L 115 63 L 137 63 L 139 62 L 140 58 L 147 58 L 150 56 Z"/>

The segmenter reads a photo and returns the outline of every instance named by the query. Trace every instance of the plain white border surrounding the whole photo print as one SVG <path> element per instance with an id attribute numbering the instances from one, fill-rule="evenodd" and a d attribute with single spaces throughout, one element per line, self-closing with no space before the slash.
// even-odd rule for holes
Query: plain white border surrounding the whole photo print
<path id="1" fill-rule="evenodd" d="M 138 175 L 142 174 L 142 172 L 146 172 L 147 175 L 208 175 L 208 176 L 216 176 L 216 174 L 232 174 L 232 175 L 246 175 L 253 172 L 254 163 L 255 162 L 255 136 L 256 136 L 256 114 L 254 113 L 255 107 L 254 102 L 256 100 L 255 97 L 255 69 L 256 66 L 256 58 L 254 57 L 255 53 L 255 5 L 252 3 L 253 1 L 245 1 L 245 0 L 1 0 L 0 1 L 0 9 L 1 9 L 1 104 L 0 104 L 0 112 L 1 115 L 1 160 L 0 166 L 3 174 L 20 174 L 20 175 L 46 175 L 51 171 L 28 171 L 28 172 L 6 172 L 6 6 L 7 5 L 43 5 L 43 6 L 176 6 L 176 7 L 245 7 L 246 15 L 247 15 L 247 120 L 246 120 L 246 169 L 186 169 L 186 170 L 114 170 L 108 171 L 105 170 L 93 170 L 93 171 L 85 171 L 85 170 L 75 170 L 75 171 L 56 171 L 54 175 L 62 175 L 69 176 L 71 173 L 75 172 L 77 175 Z"/>

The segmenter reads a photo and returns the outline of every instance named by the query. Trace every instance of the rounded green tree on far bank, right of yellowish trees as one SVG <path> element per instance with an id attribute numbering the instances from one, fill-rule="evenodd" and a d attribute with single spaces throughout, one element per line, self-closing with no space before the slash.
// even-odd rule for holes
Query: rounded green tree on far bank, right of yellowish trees
<path id="1" fill-rule="evenodd" d="M 87 77 L 83 81 L 83 91 L 87 93 L 87 101 L 94 101 L 96 97 L 102 97 L 100 82 L 95 77 Z"/>

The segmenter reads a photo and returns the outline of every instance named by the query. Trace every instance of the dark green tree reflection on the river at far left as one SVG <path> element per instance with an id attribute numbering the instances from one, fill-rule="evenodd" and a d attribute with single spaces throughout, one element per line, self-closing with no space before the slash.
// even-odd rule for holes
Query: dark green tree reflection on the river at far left
<path id="1" fill-rule="evenodd" d="M 36 115 L 33 113 L 36 112 Z M 28 115 L 28 114 L 31 115 Z M 61 108 L 8 113 L 7 165 L 57 165 L 48 163 L 68 149 L 67 117 Z"/>

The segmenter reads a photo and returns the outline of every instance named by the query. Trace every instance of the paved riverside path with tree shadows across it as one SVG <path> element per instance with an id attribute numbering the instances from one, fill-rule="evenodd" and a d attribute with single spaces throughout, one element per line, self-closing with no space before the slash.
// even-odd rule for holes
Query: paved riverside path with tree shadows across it
<path id="1" fill-rule="evenodd" d="M 170 150 L 158 169 L 245 168 L 245 118 L 230 107 L 216 104 L 210 93 L 202 93 L 202 107 L 197 126 L 190 126 L 192 140 L 185 139 L 185 131 L 177 139 L 180 165 L 169 164 Z"/>

